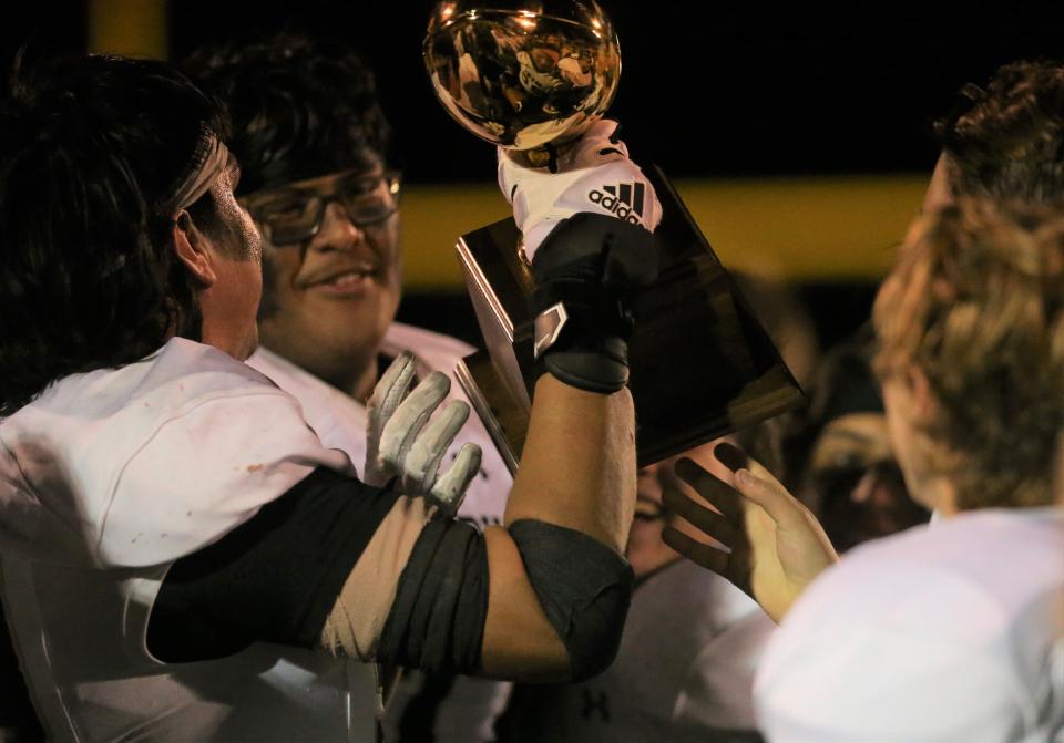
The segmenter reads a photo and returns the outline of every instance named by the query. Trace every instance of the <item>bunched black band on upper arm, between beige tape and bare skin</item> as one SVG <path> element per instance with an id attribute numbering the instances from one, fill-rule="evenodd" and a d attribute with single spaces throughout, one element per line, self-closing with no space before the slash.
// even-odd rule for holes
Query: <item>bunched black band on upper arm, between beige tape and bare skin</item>
<path id="1" fill-rule="evenodd" d="M 399 578 L 377 650 L 383 663 L 473 673 L 488 616 L 488 549 L 463 522 L 429 523 Z"/>

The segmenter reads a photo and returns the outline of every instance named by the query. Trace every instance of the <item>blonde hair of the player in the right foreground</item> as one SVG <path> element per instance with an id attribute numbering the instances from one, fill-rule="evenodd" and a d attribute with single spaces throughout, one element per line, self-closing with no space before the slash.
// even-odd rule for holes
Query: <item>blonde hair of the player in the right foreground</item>
<path id="1" fill-rule="evenodd" d="M 954 484 L 960 509 L 1054 501 L 1062 268 L 1058 213 L 961 199 L 917 220 L 876 299 L 876 370 L 928 380 L 917 457 Z"/>

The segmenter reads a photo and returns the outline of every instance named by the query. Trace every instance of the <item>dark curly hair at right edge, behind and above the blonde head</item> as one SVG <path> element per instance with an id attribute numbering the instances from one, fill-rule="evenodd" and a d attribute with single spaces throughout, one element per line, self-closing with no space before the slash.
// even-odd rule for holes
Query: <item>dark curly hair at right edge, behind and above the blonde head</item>
<path id="1" fill-rule="evenodd" d="M 1014 62 L 934 123 L 955 196 L 1064 198 L 1064 66 Z"/>

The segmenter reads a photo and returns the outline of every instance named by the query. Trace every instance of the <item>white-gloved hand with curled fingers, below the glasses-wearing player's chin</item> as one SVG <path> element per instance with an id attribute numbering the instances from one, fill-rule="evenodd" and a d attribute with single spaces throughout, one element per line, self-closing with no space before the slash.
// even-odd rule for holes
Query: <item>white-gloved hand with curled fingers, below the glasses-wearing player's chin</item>
<path id="1" fill-rule="evenodd" d="M 439 474 L 440 461 L 469 417 L 469 405 L 452 400 L 432 417 L 451 380 L 432 372 L 409 395 L 416 364 L 401 353 L 385 372 L 369 399 L 364 482 L 382 486 L 399 477 L 398 489 L 411 497 L 428 497 L 453 515 L 480 471 L 480 447 L 463 444 L 454 462 Z"/>

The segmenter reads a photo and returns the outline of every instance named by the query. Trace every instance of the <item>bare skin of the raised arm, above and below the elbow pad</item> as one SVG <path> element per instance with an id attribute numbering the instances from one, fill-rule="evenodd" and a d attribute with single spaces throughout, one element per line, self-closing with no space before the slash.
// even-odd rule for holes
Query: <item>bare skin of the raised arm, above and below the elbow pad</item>
<path id="1" fill-rule="evenodd" d="M 507 527 L 531 519 L 587 535 L 617 556 L 617 579 L 626 580 L 627 566 L 620 556 L 635 505 L 633 441 L 627 390 L 603 395 L 540 378 L 521 469 L 507 505 Z M 507 678 L 567 677 L 569 652 L 544 615 L 518 544 L 504 528 L 489 528 L 484 536 L 491 580 L 482 671 Z M 594 550 L 594 545 L 577 544 L 563 569 L 585 569 L 581 548 Z M 623 612 L 610 618 L 616 626 L 603 628 L 610 637 L 600 641 L 608 644 L 614 634 L 620 637 L 623 619 Z"/>

